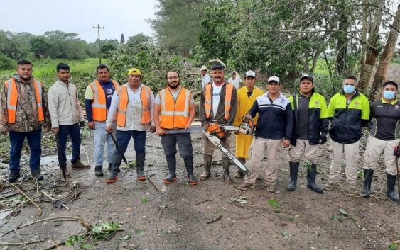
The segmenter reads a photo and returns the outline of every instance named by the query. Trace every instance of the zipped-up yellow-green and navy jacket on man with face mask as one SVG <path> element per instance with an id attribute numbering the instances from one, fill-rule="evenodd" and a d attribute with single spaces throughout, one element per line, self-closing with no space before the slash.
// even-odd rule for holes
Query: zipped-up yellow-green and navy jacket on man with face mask
<path id="1" fill-rule="evenodd" d="M 355 143 L 361 138 L 361 127 L 369 121 L 369 101 L 357 91 L 347 103 L 341 91 L 330 98 L 328 116 L 330 138 L 338 143 Z"/>

